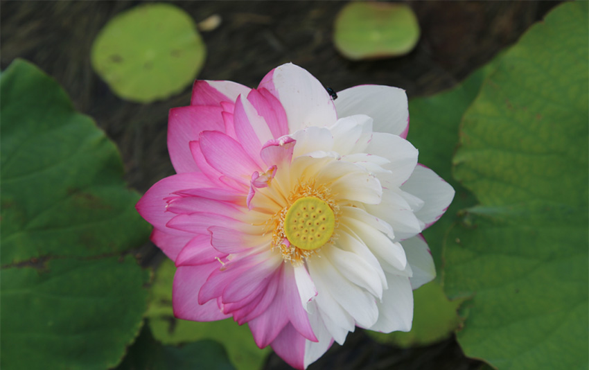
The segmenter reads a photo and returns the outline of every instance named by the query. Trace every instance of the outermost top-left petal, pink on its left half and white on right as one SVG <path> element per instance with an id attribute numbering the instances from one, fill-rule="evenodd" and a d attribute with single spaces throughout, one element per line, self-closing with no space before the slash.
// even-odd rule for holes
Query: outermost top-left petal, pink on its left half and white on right
<path id="1" fill-rule="evenodd" d="M 196 80 L 192 88 L 191 105 L 220 105 L 234 102 L 239 94 L 247 96 L 249 87 L 231 81 Z"/>

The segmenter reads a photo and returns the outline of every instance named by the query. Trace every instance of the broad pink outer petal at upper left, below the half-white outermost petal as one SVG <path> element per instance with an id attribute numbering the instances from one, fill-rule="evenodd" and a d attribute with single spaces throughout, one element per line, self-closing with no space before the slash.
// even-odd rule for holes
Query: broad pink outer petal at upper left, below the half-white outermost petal
<path id="1" fill-rule="evenodd" d="M 221 107 L 178 107 L 168 115 L 168 152 L 177 173 L 200 172 L 188 143 L 204 130 L 225 130 Z"/>

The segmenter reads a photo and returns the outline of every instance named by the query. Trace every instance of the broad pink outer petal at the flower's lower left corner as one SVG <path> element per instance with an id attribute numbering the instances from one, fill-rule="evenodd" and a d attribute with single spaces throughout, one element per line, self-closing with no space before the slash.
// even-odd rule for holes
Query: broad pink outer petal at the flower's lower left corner
<path id="1" fill-rule="evenodd" d="M 219 268 L 220 263 L 207 265 L 181 266 L 176 270 L 172 290 L 174 316 L 193 321 L 216 321 L 226 319 L 229 315 L 221 312 L 216 301 L 199 304 L 197 295 L 206 278 Z"/>

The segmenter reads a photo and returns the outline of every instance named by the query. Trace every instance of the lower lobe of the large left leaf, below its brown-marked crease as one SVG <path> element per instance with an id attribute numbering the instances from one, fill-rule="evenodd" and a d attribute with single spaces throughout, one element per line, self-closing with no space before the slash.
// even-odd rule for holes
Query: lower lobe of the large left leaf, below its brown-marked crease
<path id="1" fill-rule="evenodd" d="M 130 256 L 56 259 L 0 279 L 2 369 L 113 367 L 146 309 L 147 276 Z"/>

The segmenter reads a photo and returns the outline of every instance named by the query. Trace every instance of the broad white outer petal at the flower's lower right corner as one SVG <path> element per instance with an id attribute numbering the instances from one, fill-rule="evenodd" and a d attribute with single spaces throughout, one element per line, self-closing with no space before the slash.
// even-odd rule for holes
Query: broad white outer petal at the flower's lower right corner
<path id="1" fill-rule="evenodd" d="M 381 333 L 410 331 L 413 321 L 413 291 L 406 276 L 387 274 L 389 289 L 378 305 L 378 321 L 369 329 Z"/>

